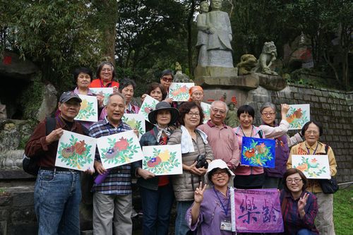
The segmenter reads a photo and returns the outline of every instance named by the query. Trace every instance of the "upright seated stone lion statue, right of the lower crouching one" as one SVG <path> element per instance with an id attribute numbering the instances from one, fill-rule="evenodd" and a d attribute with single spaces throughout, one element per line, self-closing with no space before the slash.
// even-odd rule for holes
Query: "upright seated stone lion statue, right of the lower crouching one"
<path id="1" fill-rule="evenodd" d="M 268 75 L 277 75 L 275 71 L 270 69 L 270 66 L 276 59 L 277 49 L 275 43 L 272 41 L 265 42 L 265 44 L 263 44 L 263 52 L 261 52 L 261 55 L 258 58 L 258 64 L 254 68 L 254 71 Z"/>

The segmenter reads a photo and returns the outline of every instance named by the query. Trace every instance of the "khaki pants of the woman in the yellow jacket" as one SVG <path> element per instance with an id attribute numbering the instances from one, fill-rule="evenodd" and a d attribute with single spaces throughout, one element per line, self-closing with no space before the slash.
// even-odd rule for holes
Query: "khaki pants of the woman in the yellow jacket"
<path id="1" fill-rule="evenodd" d="M 333 194 L 314 193 L 318 198 L 315 225 L 320 235 L 335 235 L 333 227 Z"/>

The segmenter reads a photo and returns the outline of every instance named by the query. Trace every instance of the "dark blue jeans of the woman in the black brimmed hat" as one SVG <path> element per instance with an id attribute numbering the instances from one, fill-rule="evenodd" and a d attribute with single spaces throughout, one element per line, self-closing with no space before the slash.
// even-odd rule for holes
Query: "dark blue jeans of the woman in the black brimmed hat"
<path id="1" fill-rule="evenodd" d="M 174 192 L 171 183 L 157 191 L 140 187 L 143 209 L 143 235 L 167 235 Z"/>

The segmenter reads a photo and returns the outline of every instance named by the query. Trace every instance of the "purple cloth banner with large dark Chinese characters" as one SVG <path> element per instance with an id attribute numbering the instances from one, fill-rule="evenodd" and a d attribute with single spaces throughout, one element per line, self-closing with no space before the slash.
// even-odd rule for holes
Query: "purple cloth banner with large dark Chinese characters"
<path id="1" fill-rule="evenodd" d="M 280 192 L 270 189 L 231 191 L 232 231 L 280 233 L 284 231 Z"/>

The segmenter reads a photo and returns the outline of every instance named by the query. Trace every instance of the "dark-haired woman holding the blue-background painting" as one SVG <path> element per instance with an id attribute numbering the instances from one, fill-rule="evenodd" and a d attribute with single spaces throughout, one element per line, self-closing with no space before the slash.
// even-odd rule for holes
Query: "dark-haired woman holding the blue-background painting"
<path id="1" fill-rule="evenodd" d="M 255 118 L 255 110 L 249 105 L 239 107 L 237 116 L 240 126 L 233 129 L 238 138 L 239 150 L 241 155 L 241 145 L 243 143 L 243 136 L 265 138 L 263 131 L 260 128 L 253 126 L 253 119 Z M 235 188 L 262 188 L 264 173 L 263 167 L 249 167 L 240 164 L 235 170 L 234 187 Z"/>

